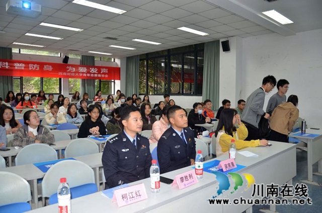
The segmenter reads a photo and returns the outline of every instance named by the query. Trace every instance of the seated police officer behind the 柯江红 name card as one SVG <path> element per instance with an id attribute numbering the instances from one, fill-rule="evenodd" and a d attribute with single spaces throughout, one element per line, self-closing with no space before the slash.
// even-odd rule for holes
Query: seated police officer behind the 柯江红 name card
<path id="1" fill-rule="evenodd" d="M 124 130 L 106 142 L 102 163 L 110 188 L 150 177 L 149 140 L 138 134 L 142 117 L 135 106 L 126 106 L 120 113 Z"/>

